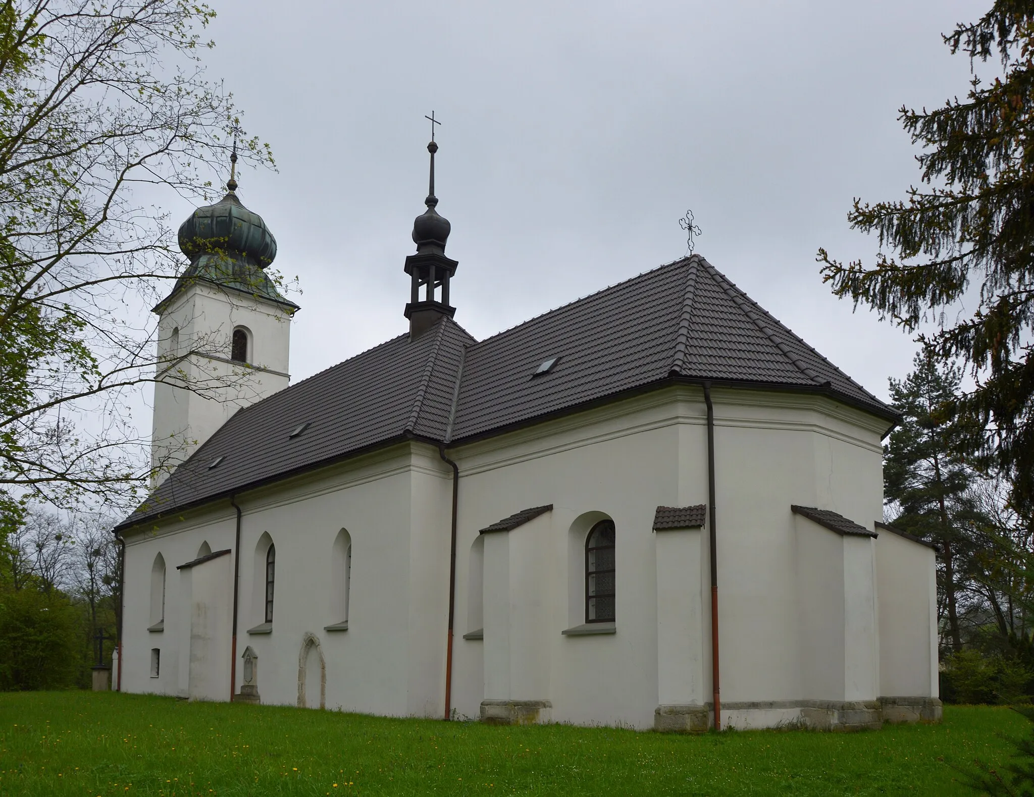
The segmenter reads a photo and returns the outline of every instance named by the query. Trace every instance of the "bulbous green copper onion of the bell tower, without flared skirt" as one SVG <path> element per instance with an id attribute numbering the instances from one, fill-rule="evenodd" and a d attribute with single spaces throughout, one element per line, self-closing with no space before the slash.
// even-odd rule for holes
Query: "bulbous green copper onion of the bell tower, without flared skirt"
<path id="1" fill-rule="evenodd" d="M 179 242 L 192 264 L 205 255 L 216 255 L 265 269 L 276 257 L 276 239 L 266 222 L 245 208 L 233 190 L 215 205 L 197 208 L 180 225 Z"/>

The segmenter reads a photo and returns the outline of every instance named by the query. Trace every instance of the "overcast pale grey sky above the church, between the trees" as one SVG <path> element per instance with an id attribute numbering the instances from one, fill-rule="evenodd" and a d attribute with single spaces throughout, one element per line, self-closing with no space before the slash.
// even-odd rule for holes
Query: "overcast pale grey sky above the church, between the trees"
<path id="1" fill-rule="evenodd" d="M 885 397 L 915 346 L 833 298 L 815 253 L 872 259 L 852 197 L 916 181 L 898 109 L 965 93 L 940 33 L 987 5 L 216 0 L 210 76 L 279 167 L 238 193 L 303 290 L 294 380 L 406 329 L 433 110 L 456 320 L 479 339 L 683 255 L 692 208 L 697 252 Z"/>

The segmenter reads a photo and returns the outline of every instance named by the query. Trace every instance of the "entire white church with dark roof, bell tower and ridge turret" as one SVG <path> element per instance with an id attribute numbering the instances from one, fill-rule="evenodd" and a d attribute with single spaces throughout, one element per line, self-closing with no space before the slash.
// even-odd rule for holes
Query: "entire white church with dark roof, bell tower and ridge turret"
<path id="1" fill-rule="evenodd" d="M 119 688 L 674 731 L 940 718 L 935 551 L 881 522 L 894 411 L 697 255 L 476 340 L 428 149 L 408 329 L 297 385 L 298 307 L 236 183 L 180 228 L 156 487 L 116 528 Z"/>

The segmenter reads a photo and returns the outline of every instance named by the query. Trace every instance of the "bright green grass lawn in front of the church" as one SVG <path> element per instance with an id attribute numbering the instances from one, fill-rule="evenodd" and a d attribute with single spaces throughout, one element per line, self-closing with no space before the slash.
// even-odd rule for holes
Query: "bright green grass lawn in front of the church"
<path id="1" fill-rule="evenodd" d="M 0 794 L 973 794 L 1031 724 L 948 707 L 939 726 L 702 736 L 489 728 L 115 693 L 0 694 Z"/>

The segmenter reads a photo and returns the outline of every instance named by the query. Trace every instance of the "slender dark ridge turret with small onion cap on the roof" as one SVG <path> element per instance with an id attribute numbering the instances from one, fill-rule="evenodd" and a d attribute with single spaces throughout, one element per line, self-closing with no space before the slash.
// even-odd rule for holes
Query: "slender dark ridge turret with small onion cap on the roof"
<path id="1" fill-rule="evenodd" d="M 405 258 L 405 273 L 412 280 L 409 303 L 405 306 L 405 317 L 409 319 L 409 337 L 418 338 L 443 315 L 450 318 L 456 308 L 449 304 L 449 280 L 456 273 L 459 263 L 446 257 L 446 242 L 452 225 L 449 219 L 435 210 L 438 197 L 434 195 L 434 153 L 438 145 L 434 143 L 434 125 L 442 124 L 432 112 L 431 143 L 427 151 L 431 153 L 430 185 L 424 205 L 427 210 L 413 222 L 413 242 L 417 253 Z M 423 293 L 423 297 L 421 297 Z"/>

